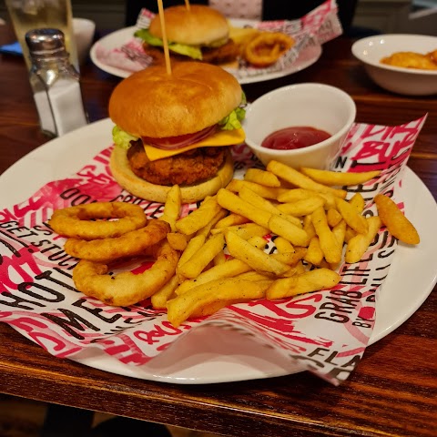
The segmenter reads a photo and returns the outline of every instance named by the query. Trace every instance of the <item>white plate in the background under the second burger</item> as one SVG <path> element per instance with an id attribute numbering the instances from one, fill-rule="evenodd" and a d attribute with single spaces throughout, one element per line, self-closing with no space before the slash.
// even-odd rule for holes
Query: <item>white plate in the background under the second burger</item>
<path id="1" fill-rule="evenodd" d="M 236 26 L 243 26 L 250 21 L 248 20 L 231 20 L 232 25 Z M 118 77 L 127 77 L 132 74 L 131 71 L 125 70 L 121 67 L 117 66 L 108 66 L 107 64 L 104 64 L 102 61 L 98 59 L 97 56 L 97 47 L 100 46 L 104 48 L 105 50 L 113 50 L 117 47 L 123 46 L 127 41 L 133 38 L 134 32 L 137 30 L 137 27 L 131 26 L 131 27 L 125 27 L 123 29 L 117 30 L 116 32 L 113 32 L 107 36 L 104 36 L 103 38 L 99 39 L 92 47 L 91 51 L 89 53 L 91 60 L 93 63 L 101 68 L 103 71 L 106 71 L 107 73 L 110 73 L 111 75 L 118 76 Z M 305 49 L 303 49 L 300 53 L 300 56 L 298 59 L 296 59 L 293 64 L 288 66 L 287 68 L 274 72 L 274 73 L 267 73 L 259 76 L 249 76 L 239 79 L 240 84 L 250 84 L 254 82 L 261 82 L 264 80 L 270 80 L 275 79 L 277 77 L 282 76 L 288 76 L 292 73 L 296 73 L 300 70 L 303 70 L 304 68 L 307 68 L 308 66 L 311 66 L 314 64 L 321 55 L 321 46 L 320 45 L 314 45 L 314 46 L 307 46 Z"/>

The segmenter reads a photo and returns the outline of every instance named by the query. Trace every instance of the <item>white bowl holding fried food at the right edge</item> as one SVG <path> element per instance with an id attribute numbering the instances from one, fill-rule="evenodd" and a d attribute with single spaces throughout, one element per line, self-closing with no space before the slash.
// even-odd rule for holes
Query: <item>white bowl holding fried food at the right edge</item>
<path id="1" fill-rule="evenodd" d="M 422 70 L 381 64 L 382 57 L 395 52 L 426 54 L 437 49 L 437 36 L 389 34 L 368 36 L 352 46 L 371 79 L 393 93 L 406 96 L 437 94 L 437 70 Z"/>

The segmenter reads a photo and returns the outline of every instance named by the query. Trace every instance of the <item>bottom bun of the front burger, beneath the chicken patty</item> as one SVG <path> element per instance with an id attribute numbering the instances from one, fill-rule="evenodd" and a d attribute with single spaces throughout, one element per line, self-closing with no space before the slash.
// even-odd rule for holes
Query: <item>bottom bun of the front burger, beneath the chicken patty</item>
<path id="1" fill-rule="evenodd" d="M 171 187 L 156 185 L 147 180 L 138 178 L 132 171 L 127 159 L 127 150 L 114 147 L 109 164 L 112 175 L 121 187 L 138 198 L 144 198 L 158 203 L 165 203 L 168 191 Z M 230 150 L 226 152 L 223 165 L 219 168 L 214 178 L 204 182 L 181 187 L 182 203 L 194 203 L 203 200 L 207 196 L 215 195 L 220 188 L 224 188 L 234 176 L 234 162 Z"/>

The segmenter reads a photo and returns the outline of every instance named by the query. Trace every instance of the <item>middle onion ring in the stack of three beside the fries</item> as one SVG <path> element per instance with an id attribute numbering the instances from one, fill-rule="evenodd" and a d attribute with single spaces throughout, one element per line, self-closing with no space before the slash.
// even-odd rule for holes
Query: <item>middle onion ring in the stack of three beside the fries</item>
<path id="1" fill-rule="evenodd" d="M 147 247 L 167 237 L 170 225 L 164 220 L 148 220 L 145 228 L 131 230 L 113 239 L 67 239 L 64 249 L 72 257 L 94 262 L 108 262 L 114 259 L 135 257 Z"/>

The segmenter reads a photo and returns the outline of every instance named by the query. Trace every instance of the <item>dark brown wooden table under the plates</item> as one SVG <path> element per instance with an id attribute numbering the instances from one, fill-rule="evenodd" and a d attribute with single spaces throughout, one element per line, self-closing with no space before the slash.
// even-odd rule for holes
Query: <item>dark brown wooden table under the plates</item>
<path id="1" fill-rule="evenodd" d="M 11 29 L 0 26 L 0 44 L 13 40 Z M 373 85 L 352 58 L 351 43 L 337 38 L 324 46 L 320 60 L 308 69 L 247 85 L 244 90 L 254 99 L 296 82 L 340 86 L 355 100 L 358 121 L 384 125 L 401 124 L 429 112 L 409 166 L 435 198 L 436 98 L 398 97 Z M 91 64 L 83 67 L 82 86 L 91 121 L 107 117 L 108 97 L 119 80 Z M 0 56 L 0 96 L 1 173 L 47 138 L 39 131 L 21 58 Z M 0 324 L 0 392 L 239 437 L 434 436 L 436 311 L 434 289 L 409 320 L 367 349 L 357 370 L 340 387 L 308 372 L 212 385 L 141 381 L 56 359 Z"/>

